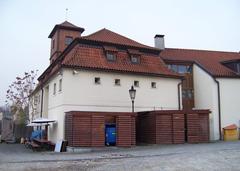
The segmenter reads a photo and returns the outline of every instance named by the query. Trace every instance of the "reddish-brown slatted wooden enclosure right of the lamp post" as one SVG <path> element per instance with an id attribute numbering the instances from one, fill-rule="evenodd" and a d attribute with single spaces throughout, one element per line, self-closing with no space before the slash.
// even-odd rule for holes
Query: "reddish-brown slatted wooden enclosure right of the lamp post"
<path id="1" fill-rule="evenodd" d="M 137 142 L 181 144 L 209 142 L 209 110 L 139 112 Z"/>

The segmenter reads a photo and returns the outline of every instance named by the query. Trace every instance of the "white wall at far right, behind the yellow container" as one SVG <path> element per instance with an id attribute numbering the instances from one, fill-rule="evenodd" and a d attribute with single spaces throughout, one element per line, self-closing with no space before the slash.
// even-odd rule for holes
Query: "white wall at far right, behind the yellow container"
<path id="1" fill-rule="evenodd" d="M 236 124 L 240 120 L 240 79 L 217 79 L 220 84 L 222 127 Z"/>

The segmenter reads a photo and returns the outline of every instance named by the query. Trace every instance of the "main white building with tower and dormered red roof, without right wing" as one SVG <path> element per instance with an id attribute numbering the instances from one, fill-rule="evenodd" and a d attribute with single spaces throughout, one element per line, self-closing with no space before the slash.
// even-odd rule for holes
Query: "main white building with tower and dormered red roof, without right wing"
<path id="1" fill-rule="evenodd" d="M 83 31 L 67 21 L 54 27 L 49 35 L 50 65 L 31 96 L 35 104 L 31 119 L 41 116 L 57 121 L 49 127 L 51 141 L 65 138 L 66 113 L 71 111 L 108 112 L 111 116 L 123 112 L 130 117 L 128 90 L 132 85 L 137 90 L 135 111 L 181 108 L 183 77 L 167 68 L 159 57 L 160 49 L 107 29 L 88 36 L 82 36 Z M 120 115 L 113 120 L 121 120 Z M 105 122 L 112 120 L 104 118 Z"/>

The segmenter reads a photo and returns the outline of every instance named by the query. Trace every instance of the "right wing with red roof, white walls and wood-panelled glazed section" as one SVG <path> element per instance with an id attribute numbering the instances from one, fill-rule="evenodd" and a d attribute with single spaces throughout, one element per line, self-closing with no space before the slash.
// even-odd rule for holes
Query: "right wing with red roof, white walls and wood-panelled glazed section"
<path id="1" fill-rule="evenodd" d="M 160 57 L 185 75 L 184 108 L 210 109 L 210 138 L 219 140 L 222 128 L 240 120 L 240 53 L 165 48 Z"/>

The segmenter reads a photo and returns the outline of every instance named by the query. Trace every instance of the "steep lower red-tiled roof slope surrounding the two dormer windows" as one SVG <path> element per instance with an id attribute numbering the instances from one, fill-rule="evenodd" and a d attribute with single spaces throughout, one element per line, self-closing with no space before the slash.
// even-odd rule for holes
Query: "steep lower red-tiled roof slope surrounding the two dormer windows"
<path id="1" fill-rule="evenodd" d="M 117 53 L 117 60 L 115 62 L 109 62 L 105 57 L 102 47 L 90 47 L 82 44 L 75 46 L 71 52 L 65 56 L 62 65 L 179 78 L 178 74 L 167 69 L 162 59 L 157 55 L 142 54 L 140 64 L 132 64 L 127 50 L 120 50 Z"/>

